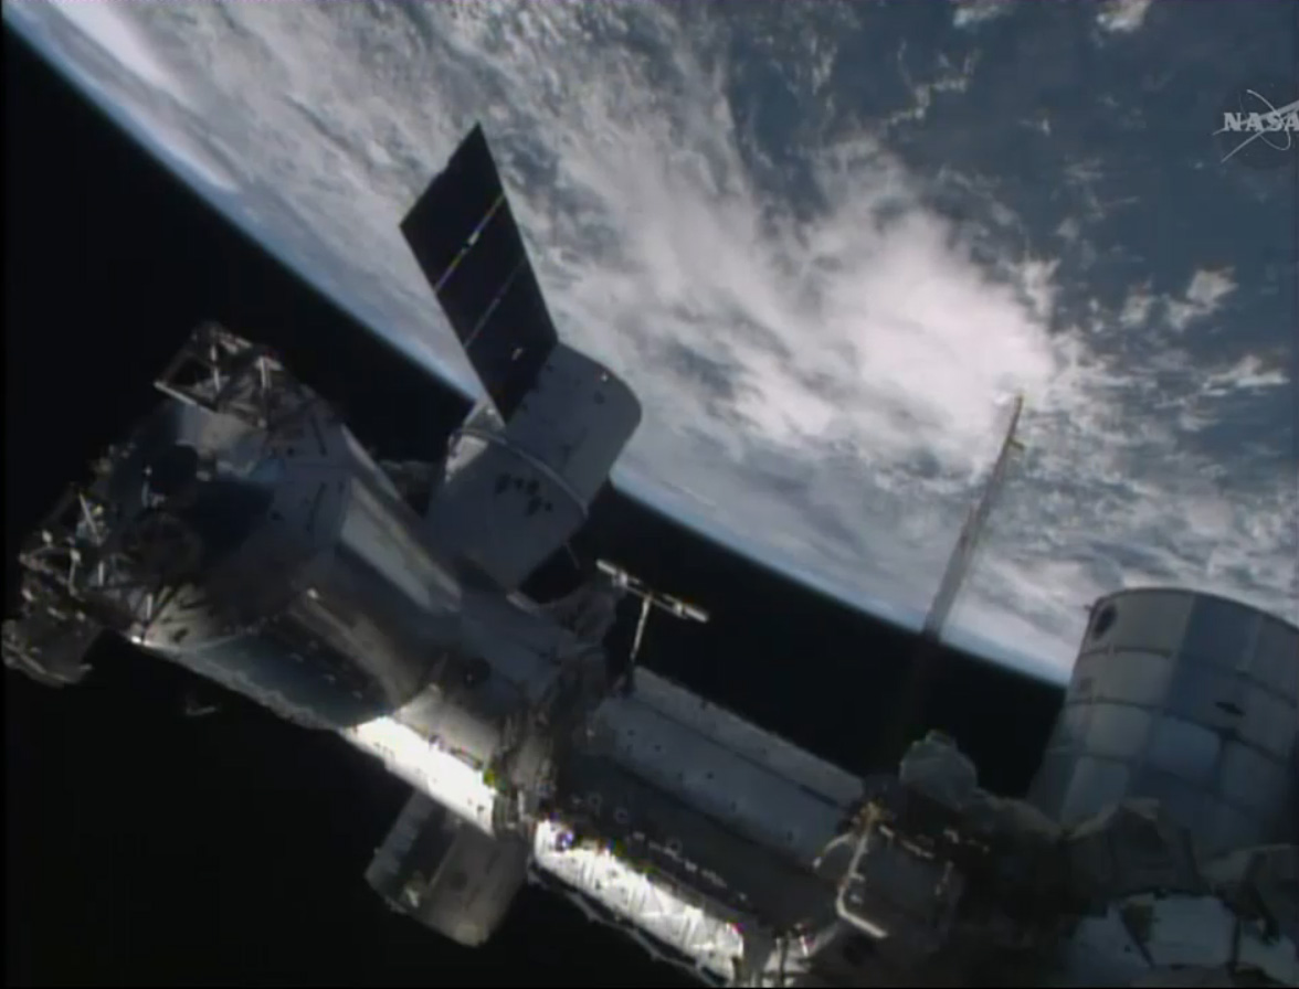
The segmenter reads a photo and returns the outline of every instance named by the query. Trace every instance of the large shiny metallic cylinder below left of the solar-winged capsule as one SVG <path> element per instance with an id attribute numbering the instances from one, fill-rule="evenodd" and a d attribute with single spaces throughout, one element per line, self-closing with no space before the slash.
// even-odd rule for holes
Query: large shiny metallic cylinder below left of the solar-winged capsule
<path id="1" fill-rule="evenodd" d="M 177 439 L 209 465 L 196 531 L 205 554 L 217 541 L 221 552 L 136 641 L 318 727 L 413 697 L 455 641 L 459 588 L 346 427 L 318 404 L 268 432 L 168 404 L 112 479 L 123 504 L 140 497 L 155 450 Z M 218 517 L 220 540 L 207 531 Z"/>

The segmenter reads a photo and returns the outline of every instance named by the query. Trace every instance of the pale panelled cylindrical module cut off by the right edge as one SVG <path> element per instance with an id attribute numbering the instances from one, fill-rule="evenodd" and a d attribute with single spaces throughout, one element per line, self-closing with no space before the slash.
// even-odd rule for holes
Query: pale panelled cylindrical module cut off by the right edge
<path id="1" fill-rule="evenodd" d="M 1030 798 L 1156 798 L 1205 851 L 1295 840 L 1299 628 L 1179 589 L 1096 602 Z"/>

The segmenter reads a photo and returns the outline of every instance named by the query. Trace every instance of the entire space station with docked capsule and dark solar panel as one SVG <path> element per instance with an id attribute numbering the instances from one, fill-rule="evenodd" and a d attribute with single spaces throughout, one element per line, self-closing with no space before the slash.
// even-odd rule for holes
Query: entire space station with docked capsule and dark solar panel
<path id="1" fill-rule="evenodd" d="M 1299 629 L 1122 591 L 1025 798 L 935 732 L 892 772 L 833 766 L 604 644 L 629 594 L 638 642 L 701 609 L 607 561 L 522 592 L 640 405 L 559 339 L 479 128 L 401 231 L 487 396 L 444 459 L 378 462 L 203 326 L 23 545 L 8 666 L 74 684 L 117 635 L 372 753 L 412 796 L 368 881 L 464 945 L 536 883 L 717 985 L 1299 984 Z"/>

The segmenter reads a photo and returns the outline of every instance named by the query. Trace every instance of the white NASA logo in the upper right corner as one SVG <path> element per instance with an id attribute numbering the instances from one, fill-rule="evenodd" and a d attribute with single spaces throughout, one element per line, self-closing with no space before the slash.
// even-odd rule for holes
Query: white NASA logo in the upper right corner
<path id="1" fill-rule="evenodd" d="M 1274 169 L 1295 161 L 1299 147 L 1299 86 L 1265 78 L 1234 90 L 1217 114 L 1213 138 L 1220 164 Z"/>

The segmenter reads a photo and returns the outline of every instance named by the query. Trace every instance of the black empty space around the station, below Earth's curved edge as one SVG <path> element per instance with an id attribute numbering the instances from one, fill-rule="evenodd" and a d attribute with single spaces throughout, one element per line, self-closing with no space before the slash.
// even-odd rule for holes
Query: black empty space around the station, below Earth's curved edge
<path id="1" fill-rule="evenodd" d="M 156 400 L 195 323 L 279 348 L 387 456 L 431 456 L 461 400 L 174 180 L 5 32 L 5 557 Z M 435 162 L 430 162 L 430 166 Z M 430 297 L 430 305 L 434 305 Z M 868 520 L 863 519 L 863 524 Z M 882 627 L 618 496 L 590 540 L 712 611 L 652 624 L 648 665 L 865 771 L 914 652 Z M 1059 692 L 939 657 L 918 720 L 1022 792 Z M 362 872 L 405 800 L 342 741 L 120 645 L 51 690 L 5 674 L 8 984 L 647 985 L 688 981 L 525 890 L 488 949 L 396 916 Z"/>

